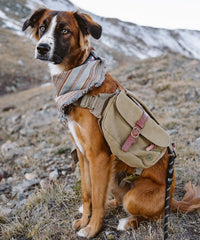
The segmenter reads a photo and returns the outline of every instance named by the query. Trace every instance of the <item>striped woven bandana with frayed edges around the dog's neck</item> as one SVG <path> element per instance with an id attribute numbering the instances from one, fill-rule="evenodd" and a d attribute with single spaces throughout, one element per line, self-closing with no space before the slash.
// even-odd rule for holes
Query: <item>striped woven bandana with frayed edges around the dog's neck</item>
<path id="1" fill-rule="evenodd" d="M 101 59 L 54 75 L 58 110 L 64 112 L 65 107 L 76 102 L 90 90 L 100 87 L 104 78 L 105 65 Z"/>

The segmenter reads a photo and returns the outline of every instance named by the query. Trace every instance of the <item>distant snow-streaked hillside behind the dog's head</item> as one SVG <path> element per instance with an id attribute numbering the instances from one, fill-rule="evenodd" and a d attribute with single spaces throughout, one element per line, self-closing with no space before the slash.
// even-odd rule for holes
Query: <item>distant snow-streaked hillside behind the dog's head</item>
<path id="1" fill-rule="evenodd" d="M 42 6 L 77 9 L 67 0 L 0 0 L 1 95 L 51 81 L 46 64 L 34 59 L 34 41 L 21 31 L 25 19 Z M 166 53 L 200 58 L 198 31 L 156 29 L 90 14 L 103 26 L 102 38 L 92 43 L 97 54 L 106 59 L 109 70 Z"/>

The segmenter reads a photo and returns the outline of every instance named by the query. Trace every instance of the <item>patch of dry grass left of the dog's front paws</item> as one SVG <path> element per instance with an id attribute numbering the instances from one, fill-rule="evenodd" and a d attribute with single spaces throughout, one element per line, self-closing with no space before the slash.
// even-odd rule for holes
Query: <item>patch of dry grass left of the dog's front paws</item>
<path id="1" fill-rule="evenodd" d="M 66 186 L 64 183 L 49 185 L 29 197 L 15 216 L 4 219 L 4 224 L 1 221 L 2 239 L 58 240 L 74 235 L 71 224 L 76 214 L 74 209 L 80 204 L 80 194 L 77 189 L 67 192 Z"/>

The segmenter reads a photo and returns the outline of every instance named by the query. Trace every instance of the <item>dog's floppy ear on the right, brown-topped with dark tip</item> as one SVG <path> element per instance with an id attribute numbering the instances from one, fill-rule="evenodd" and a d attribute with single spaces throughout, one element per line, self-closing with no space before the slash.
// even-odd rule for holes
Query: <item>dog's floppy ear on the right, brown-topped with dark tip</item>
<path id="1" fill-rule="evenodd" d="M 99 39 L 101 37 L 102 27 L 98 23 L 94 22 L 89 15 L 75 12 L 74 16 L 83 35 L 91 34 L 91 36 L 95 39 Z"/>

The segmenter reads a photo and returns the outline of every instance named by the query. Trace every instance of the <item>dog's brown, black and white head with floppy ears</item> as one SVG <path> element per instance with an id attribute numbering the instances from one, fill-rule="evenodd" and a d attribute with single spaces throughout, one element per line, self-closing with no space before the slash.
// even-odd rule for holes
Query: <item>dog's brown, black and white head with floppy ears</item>
<path id="1" fill-rule="evenodd" d="M 92 18 L 79 12 L 51 11 L 38 9 L 24 22 L 36 38 L 35 57 L 40 60 L 61 64 L 67 58 L 76 57 L 89 48 L 88 36 L 101 37 L 102 28 Z"/>

